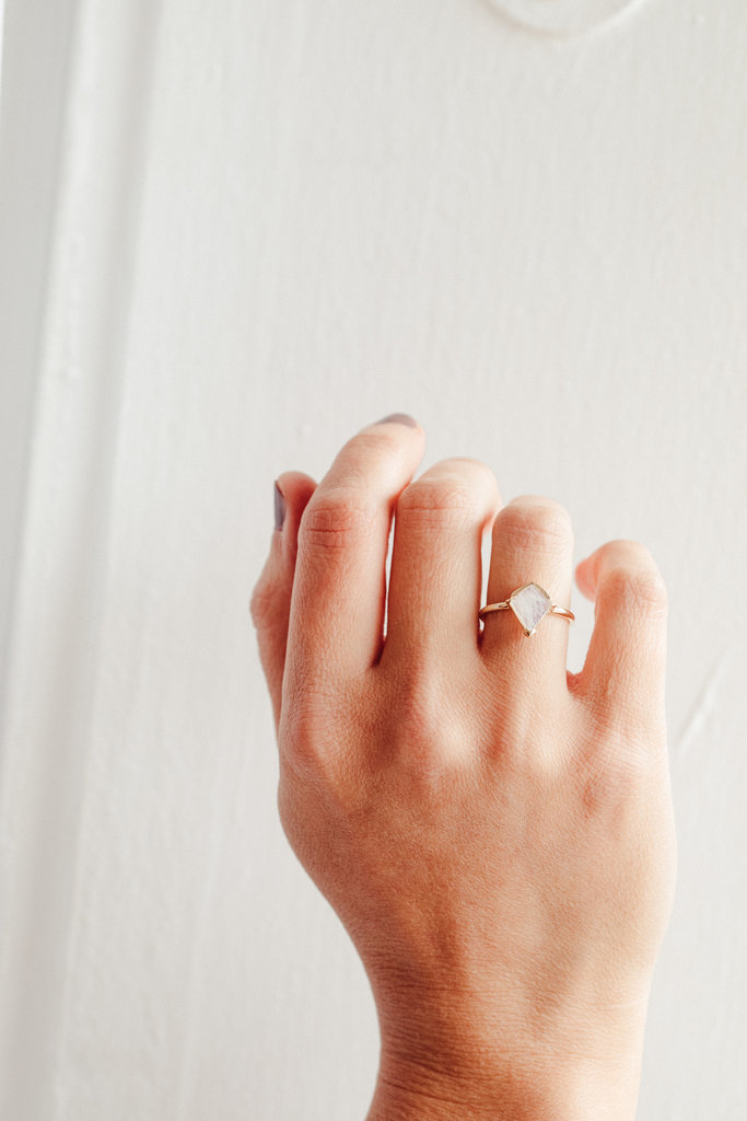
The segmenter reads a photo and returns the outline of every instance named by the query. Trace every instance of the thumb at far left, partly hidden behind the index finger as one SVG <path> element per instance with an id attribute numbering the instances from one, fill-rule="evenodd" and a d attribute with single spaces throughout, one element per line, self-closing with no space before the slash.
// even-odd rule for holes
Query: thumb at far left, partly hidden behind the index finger
<path id="1" fill-rule="evenodd" d="M 276 528 L 270 543 L 270 553 L 252 592 L 252 620 L 256 628 L 260 660 L 272 698 L 276 728 L 280 717 L 298 526 L 316 485 L 314 479 L 298 471 L 288 471 L 276 482 Z"/>

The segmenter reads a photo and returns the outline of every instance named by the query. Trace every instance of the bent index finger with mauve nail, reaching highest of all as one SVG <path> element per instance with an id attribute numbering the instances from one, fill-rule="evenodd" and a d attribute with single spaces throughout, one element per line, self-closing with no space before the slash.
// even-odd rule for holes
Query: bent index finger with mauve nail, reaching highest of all
<path id="1" fill-rule="evenodd" d="M 343 447 L 306 508 L 289 626 L 299 687 L 356 677 L 379 659 L 392 513 L 424 438 L 409 417 L 370 425 Z"/>

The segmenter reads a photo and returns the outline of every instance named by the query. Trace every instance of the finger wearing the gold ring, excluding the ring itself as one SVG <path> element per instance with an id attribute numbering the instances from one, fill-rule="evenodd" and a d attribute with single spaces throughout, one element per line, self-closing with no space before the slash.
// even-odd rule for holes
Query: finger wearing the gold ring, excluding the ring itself
<path id="1" fill-rule="evenodd" d="M 572 556 L 571 522 L 560 503 L 536 495 L 514 499 L 493 524 L 487 602 L 506 601 L 523 585 L 536 584 L 552 604 L 569 608 Z M 541 608 L 542 599 L 534 590 L 522 597 L 529 599 L 523 606 L 530 615 L 533 596 Z M 568 620 L 547 614 L 527 638 L 512 610 L 492 612 L 485 617 L 482 648 L 491 663 L 504 663 L 512 674 L 550 670 L 560 673 L 564 683 Z"/>

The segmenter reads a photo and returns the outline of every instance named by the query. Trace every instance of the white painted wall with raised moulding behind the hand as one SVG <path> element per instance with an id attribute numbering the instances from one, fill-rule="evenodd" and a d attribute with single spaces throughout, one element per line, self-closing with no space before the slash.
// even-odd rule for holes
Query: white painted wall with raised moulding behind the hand
<path id="1" fill-rule="evenodd" d="M 639 1119 L 747 1115 L 741 0 L 49 8 L 8 0 L 2 91 L 0 1115 L 364 1115 L 248 601 L 274 475 L 395 409 L 665 573 Z"/>

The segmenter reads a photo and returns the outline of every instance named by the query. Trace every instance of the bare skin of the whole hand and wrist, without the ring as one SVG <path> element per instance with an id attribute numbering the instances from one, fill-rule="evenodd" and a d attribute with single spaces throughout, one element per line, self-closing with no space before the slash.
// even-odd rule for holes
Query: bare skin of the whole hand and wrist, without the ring
<path id="1" fill-rule="evenodd" d="M 484 531 L 488 602 L 568 605 L 570 520 L 474 460 L 413 481 L 423 447 L 387 419 L 318 485 L 281 475 L 252 596 L 282 825 L 376 1001 L 368 1121 L 632 1119 L 675 870 L 664 584 L 634 541 L 578 566 L 578 675 L 563 619 L 480 631 Z"/>

